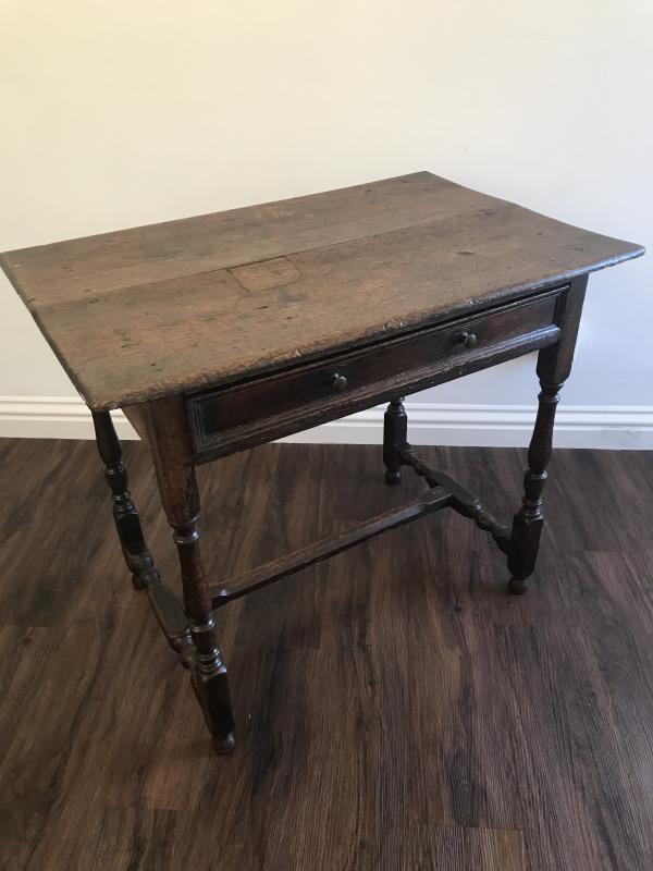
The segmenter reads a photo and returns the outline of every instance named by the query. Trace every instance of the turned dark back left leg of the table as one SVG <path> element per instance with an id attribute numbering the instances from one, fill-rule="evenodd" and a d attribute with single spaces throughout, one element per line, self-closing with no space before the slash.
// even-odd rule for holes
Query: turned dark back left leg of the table
<path id="1" fill-rule="evenodd" d="M 145 543 L 140 519 L 127 489 L 127 470 L 122 463 L 120 441 L 109 412 L 91 412 L 104 478 L 111 488 L 113 519 L 134 586 L 141 590 L 159 579 L 152 556 Z"/>

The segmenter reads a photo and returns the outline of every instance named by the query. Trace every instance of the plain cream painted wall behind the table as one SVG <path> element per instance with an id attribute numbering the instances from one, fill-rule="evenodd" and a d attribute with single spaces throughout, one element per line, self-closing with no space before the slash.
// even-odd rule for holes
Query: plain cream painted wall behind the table
<path id="1" fill-rule="evenodd" d="M 0 27 L 1 249 L 419 169 L 653 245 L 648 0 L 2 0 Z M 566 403 L 653 412 L 652 272 L 591 280 Z M 534 394 L 523 359 L 418 400 Z M 2 278 L 0 396 L 72 395 Z"/>

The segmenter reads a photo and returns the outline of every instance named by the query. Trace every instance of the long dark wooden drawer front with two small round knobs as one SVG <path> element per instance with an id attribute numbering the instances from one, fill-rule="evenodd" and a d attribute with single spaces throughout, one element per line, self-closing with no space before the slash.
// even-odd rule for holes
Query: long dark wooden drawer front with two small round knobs
<path id="1" fill-rule="evenodd" d="M 559 287 L 318 363 L 194 394 L 188 410 L 196 456 L 230 453 L 220 449 L 235 442 L 238 450 L 297 432 L 315 426 L 321 410 L 324 419 L 337 417 L 341 408 L 343 416 L 374 405 L 385 392 L 421 390 L 448 380 L 447 371 L 457 378 L 553 344 L 559 335 L 555 324 L 565 291 Z"/>

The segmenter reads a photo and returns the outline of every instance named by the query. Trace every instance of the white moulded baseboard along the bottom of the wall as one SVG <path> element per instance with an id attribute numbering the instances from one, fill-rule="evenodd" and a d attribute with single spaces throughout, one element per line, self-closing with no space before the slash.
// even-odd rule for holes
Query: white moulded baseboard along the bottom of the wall
<path id="1" fill-rule="evenodd" d="M 519 447 L 528 444 L 535 416 L 527 405 L 440 405 L 407 402 L 414 444 Z M 136 433 L 122 412 L 114 412 L 122 439 Z M 383 407 L 335 420 L 283 441 L 380 444 Z M 0 396 L 0 437 L 91 439 L 90 415 L 75 396 Z M 653 450 L 653 406 L 565 405 L 555 425 L 558 447 Z"/>

